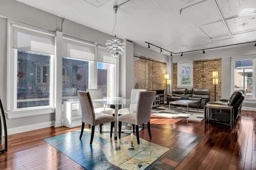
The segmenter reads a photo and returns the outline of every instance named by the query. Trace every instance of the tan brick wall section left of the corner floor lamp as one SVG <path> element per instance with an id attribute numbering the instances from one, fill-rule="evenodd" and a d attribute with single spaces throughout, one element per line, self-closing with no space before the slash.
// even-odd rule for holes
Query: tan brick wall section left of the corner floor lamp
<path id="1" fill-rule="evenodd" d="M 135 88 L 147 90 L 166 89 L 164 74 L 166 74 L 166 63 L 151 61 L 140 58 L 134 61 L 134 74 L 137 79 Z"/>

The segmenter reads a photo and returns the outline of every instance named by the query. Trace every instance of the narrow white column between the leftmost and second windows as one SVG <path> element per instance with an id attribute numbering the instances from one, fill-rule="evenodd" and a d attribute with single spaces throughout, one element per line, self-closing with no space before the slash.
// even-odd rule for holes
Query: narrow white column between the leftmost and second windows
<path id="1" fill-rule="evenodd" d="M 56 32 L 55 127 L 62 126 L 62 32 Z"/>

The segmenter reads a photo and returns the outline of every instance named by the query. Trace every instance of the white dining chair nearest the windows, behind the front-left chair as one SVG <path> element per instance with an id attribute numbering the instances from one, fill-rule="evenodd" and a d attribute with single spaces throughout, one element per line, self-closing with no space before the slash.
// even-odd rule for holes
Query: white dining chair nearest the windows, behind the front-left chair
<path id="1" fill-rule="evenodd" d="M 102 90 L 101 89 L 87 89 L 87 92 L 90 92 L 92 100 L 98 100 L 103 98 Z M 93 102 L 94 111 L 97 113 L 105 113 L 108 115 L 115 114 L 115 109 L 107 108 L 106 105 L 103 106 L 101 103 Z"/>

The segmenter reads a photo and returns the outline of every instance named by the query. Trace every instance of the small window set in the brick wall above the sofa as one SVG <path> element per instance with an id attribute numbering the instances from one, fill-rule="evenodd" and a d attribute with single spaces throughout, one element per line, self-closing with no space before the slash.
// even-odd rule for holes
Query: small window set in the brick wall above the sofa
<path id="1" fill-rule="evenodd" d="M 193 86 L 193 62 L 178 63 L 178 86 Z"/>

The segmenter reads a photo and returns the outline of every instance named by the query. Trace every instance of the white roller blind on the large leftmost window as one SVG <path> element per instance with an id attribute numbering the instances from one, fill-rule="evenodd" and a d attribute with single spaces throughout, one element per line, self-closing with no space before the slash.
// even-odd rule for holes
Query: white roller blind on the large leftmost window
<path id="1" fill-rule="evenodd" d="M 12 25 L 12 47 L 27 51 L 55 54 L 55 35 L 44 34 L 19 25 Z"/>

